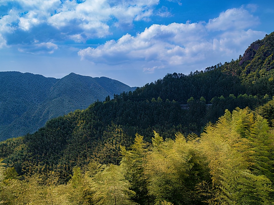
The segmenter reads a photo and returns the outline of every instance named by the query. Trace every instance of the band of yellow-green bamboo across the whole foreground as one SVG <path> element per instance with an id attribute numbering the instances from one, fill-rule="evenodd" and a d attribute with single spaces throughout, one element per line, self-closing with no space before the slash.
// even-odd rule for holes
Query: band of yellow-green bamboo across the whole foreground
<path id="1" fill-rule="evenodd" d="M 274 204 L 274 133 L 248 108 L 226 110 L 200 137 L 154 132 L 148 145 L 137 134 L 120 149 L 120 166 L 76 166 L 66 185 L 53 172 L 19 178 L 1 163 L 0 204 Z"/>

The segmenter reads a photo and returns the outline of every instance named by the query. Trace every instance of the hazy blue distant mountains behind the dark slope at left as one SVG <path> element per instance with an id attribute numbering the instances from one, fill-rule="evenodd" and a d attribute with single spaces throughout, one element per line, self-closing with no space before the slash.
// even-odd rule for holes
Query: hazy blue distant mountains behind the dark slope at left
<path id="1" fill-rule="evenodd" d="M 0 141 L 33 133 L 51 118 L 85 109 L 108 95 L 112 99 L 114 93 L 135 89 L 107 77 L 70 73 L 55 79 L 31 73 L 0 72 Z"/>

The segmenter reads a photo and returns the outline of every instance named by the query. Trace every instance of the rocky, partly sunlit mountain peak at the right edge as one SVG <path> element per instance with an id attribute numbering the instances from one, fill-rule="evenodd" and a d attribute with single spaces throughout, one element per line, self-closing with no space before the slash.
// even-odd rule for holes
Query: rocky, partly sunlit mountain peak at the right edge
<path id="1" fill-rule="evenodd" d="M 222 72 L 239 76 L 249 93 L 274 95 L 274 32 L 253 42 L 239 60 L 225 62 Z"/>

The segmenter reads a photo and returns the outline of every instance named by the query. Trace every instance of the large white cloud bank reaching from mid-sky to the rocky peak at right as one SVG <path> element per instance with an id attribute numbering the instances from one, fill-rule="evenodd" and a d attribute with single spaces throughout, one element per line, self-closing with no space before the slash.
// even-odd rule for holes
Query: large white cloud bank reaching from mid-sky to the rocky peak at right
<path id="1" fill-rule="evenodd" d="M 126 34 L 97 48 L 82 49 L 78 55 L 82 59 L 108 65 L 145 62 L 153 65 L 144 66 L 143 71 L 149 73 L 160 67 L 197 65 L 216 56 L 231 60 L 235 54 L 243 54 L 242 49 L 251 42 L 264 37 L 263 32 L 244 30 L 257 22 L 257 17 L 242 7 L 228 9 L 208 23 L 153 24 L 135 36 Z M 222 32 L 216 33 L 216 30 Z"/>

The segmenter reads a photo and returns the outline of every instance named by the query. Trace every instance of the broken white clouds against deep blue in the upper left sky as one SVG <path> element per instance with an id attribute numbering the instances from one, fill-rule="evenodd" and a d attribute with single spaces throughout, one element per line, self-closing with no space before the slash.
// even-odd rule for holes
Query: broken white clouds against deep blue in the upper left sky
<path id="1" fill-rule="evenodd" d="M 40 38 L 35 32 L 39 28 L 42 36 L 48 34 L 54 40 L 86 42 L 111 35 L 110 26 L 131 26 L 134 21 L 150 20 L 158 3 L 159 0 L 6 0 L 1 5 L 7 12 L 0 17 L 0 34 L 9 44 L 18 44 L 12 36 L 25 32 L 29 42 L 24 43 L 31 44 L 34 38 Z"/>

